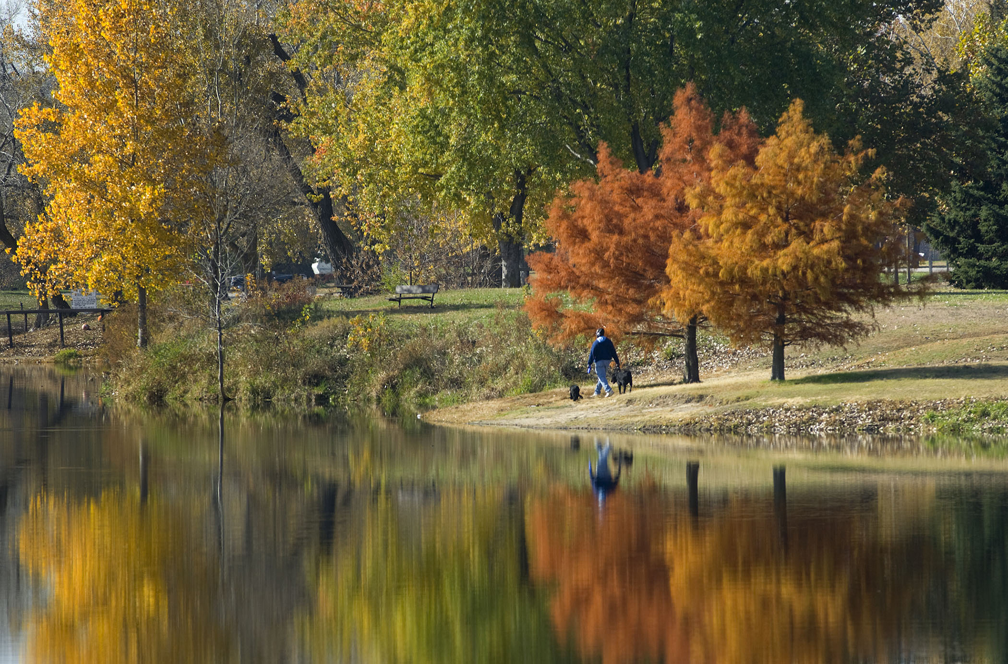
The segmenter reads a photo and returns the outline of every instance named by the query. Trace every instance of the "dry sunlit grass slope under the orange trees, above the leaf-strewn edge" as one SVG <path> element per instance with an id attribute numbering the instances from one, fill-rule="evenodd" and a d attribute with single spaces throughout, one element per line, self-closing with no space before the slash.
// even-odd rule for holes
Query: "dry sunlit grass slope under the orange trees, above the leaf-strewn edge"
<path id="1" fill-rule="evenodd" d="M 444 423 L 492 422 L 536 428 L 666 426 L 738 408 L 830 406 L 871 400 L 1008 396 L 1008 295 L 937 294 L 877 312 L 877 332 L 843 348 L 788 349 L 787 376 L 771 382 L 765 353 L 711 358 L 701 384 L 675 374 L 645 374 L 631 395 L 572 404 L 565 391 L 446 409 Z M 712 371 L 711 367 L 721 368 Z M 592 381 L 594 382 L 594 381 Z M 582 392 L 591 392 L 591 382 Z"/>

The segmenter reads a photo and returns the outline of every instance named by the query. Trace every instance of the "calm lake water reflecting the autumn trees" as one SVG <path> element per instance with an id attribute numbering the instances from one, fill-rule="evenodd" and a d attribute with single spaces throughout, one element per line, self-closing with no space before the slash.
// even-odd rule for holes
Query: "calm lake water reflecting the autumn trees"
<path id="1" fill-rule="evenodd" d="M 98 393 L 0 371 L 2 661 L 1008 659 L 1008 466 L 969 447 L 271 414 L 222 445 Z"/>

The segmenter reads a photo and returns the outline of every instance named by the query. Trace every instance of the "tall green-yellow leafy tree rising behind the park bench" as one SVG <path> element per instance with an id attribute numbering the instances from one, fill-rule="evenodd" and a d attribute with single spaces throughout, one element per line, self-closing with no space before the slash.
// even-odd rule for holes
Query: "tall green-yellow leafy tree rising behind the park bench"
<path id="1" fill-rule="evenodd" d="M 387 243 L 408 221 L 404 202 L 435 200 L 496 245 L 514 287 L 570 155 L 552 141 L 549 109 L 522 91 L 514 32 L 486 47 L 481 16 L 495 9 L 318 0 L 292 7 L 285 28 L 314 74 L 292 128 L 318 139 L 310 168 L 365 234 Z"/>

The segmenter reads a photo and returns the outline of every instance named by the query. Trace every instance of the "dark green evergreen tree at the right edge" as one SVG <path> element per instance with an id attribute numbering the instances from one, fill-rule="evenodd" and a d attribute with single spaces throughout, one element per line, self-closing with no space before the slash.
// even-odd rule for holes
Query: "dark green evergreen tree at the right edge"
<path id="1" fill-rule="evenodd" d="M 982 56 L 977 95 L 986 122 L 964 131 L 969 156 L 957 169 L 944 205 L 924 224 L 962 288 L 1008 288 L 1008 44 Z"/>

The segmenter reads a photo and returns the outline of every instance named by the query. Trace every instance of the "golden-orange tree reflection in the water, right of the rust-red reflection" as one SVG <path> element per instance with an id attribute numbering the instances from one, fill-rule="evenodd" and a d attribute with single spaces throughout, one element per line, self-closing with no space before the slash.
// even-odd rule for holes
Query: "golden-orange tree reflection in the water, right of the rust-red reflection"
<path id="1" fill-rule="evenodd" d="M 932 551 L 883 541 L 874 517 L 831 512 L 829 527 L 814 512 L 791 515 L 786 540 L 771 500 L 732 501 L 705 527 L 669 529 L 672 602 L 692 628 L 684 661 L 891 661 L 929 590 Z"/>

